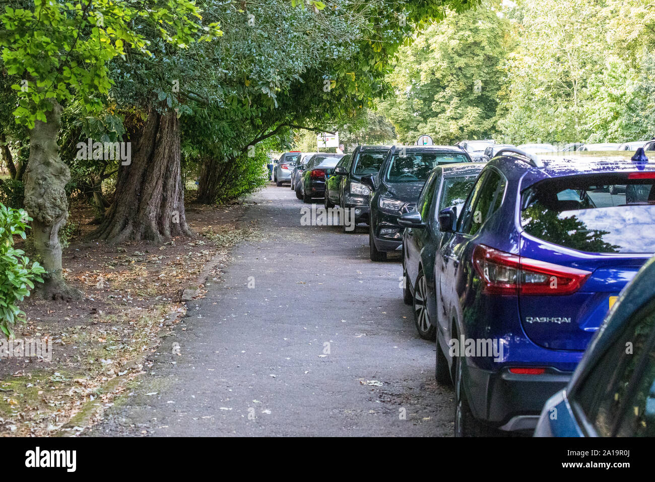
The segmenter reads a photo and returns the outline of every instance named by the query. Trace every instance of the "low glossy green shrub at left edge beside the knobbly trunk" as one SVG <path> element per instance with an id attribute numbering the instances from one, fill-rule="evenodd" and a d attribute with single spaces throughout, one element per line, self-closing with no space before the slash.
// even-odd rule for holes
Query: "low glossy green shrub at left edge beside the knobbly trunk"
<path id="1" fill-rule="evenodd" d="M 11 209 L 0 203 L 0 330 L 14 336 L 13 327 L 18 321 L 25 322 L 24 311 L 17 302 L 29 296 L 34 282 L 43 283 L 43 266 L 35 261 L 29 266 L 25 252 L 14 248 L 14 235 L 26 238 L 25 230 L 31 221 L 23 209 Z"/>

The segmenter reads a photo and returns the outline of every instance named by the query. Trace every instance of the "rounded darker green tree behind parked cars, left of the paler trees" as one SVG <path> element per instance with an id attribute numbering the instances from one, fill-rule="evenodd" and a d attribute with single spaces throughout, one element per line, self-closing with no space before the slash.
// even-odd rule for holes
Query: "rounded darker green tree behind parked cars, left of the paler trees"
<path id="1" fill-rule="evenodd" d="M 485 138 L 495 115 L 508 22 L 485 2 L 428 27 L 402 47 L 389 79 L 395 95 L 381 104 L 402 142 L 430 134 L 437 144 Z"/>

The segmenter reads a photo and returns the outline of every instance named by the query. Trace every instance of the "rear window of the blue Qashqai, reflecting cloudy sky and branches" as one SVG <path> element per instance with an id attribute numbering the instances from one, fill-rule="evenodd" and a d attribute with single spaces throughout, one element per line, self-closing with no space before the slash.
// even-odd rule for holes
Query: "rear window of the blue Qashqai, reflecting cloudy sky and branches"
<path id="1" fill-rule="evenodd" d="M 565 176 L 521 193 L 526 233 L 585 252 L 655 252 L 655 189 L 650 173 Z"/>

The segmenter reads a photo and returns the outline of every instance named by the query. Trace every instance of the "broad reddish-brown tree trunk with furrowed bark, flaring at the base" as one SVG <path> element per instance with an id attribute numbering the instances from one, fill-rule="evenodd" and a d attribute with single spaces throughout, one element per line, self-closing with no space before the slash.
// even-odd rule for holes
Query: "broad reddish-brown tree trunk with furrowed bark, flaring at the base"
<path id="1" fill-rule="evenodd" d="M 151 110 L 131 138 L 131 162 L 121 165 L 114 201 L 89 237 L 110 243 L 163 243 L 174 236 L 192 236 L 184 211 L 176 113 Z"/>

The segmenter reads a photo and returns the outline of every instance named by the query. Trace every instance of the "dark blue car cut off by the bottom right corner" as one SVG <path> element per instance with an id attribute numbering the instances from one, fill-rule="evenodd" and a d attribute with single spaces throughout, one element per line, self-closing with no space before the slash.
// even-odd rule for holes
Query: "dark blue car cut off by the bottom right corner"
<path id="1" fill-rule="evenodd" d="M 655 437 L 655 258 L 622 292 L 535 437 Z"/>

